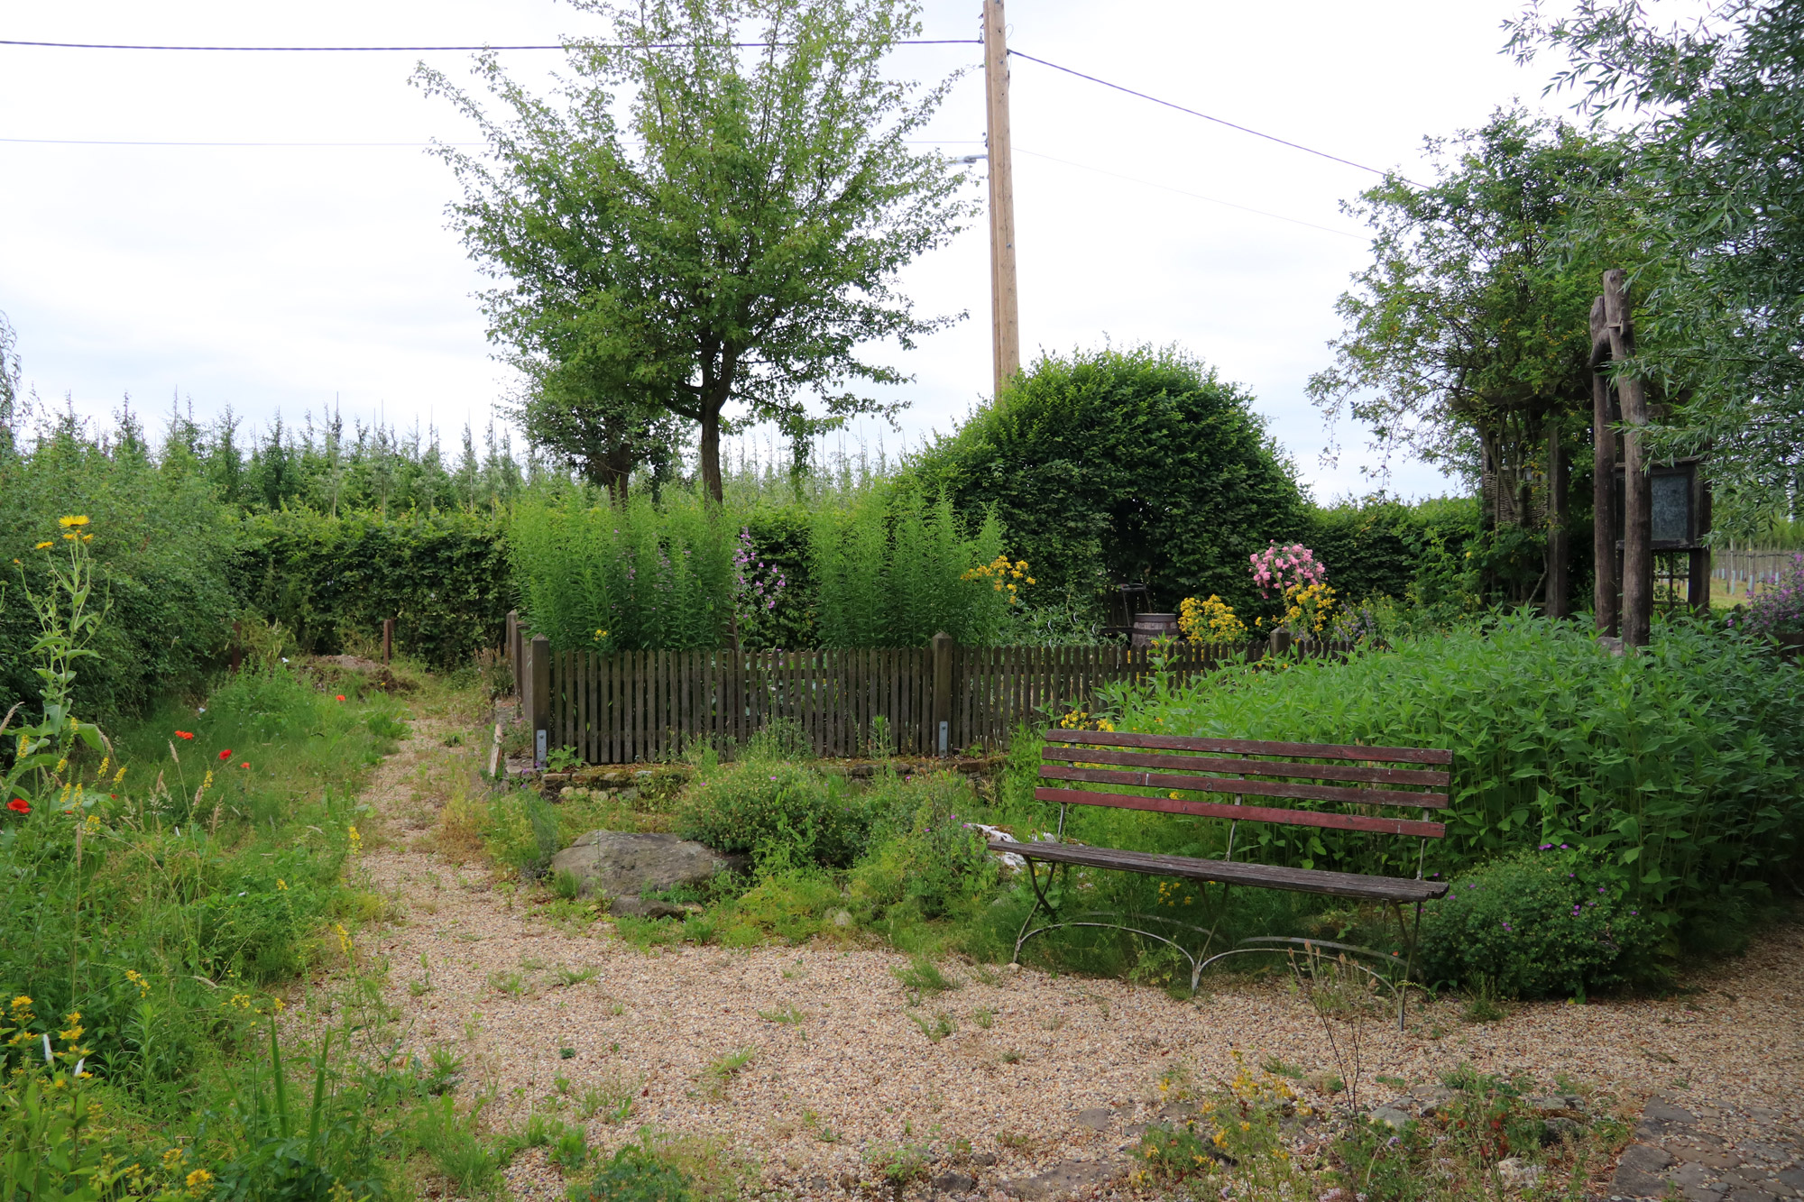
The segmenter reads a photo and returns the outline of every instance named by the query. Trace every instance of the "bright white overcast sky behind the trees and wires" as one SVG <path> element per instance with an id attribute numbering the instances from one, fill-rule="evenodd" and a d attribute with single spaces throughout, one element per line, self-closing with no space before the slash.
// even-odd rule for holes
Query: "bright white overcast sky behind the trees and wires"
<path id="1" fill-rule="evenodd" d="M 922 36 L 976 38 L 980 9 L 927 0 Z M 1025 54 L 1431 179 L 1425 137 L 1515 99 L 1564 110 L 1564 97 L 1542 97 L 1551 61 L 1519 67 L 1501 52 L 1499 25 L 1519 11 L 1519 0 L 1012 0 L 1007 20 Z M 550 0 L 0 0 L 7 40 L 500 45 L 601 32 Z M 503 61 L 545 90 L 559 58 Z M 408 81 L 419 61 L 469 79 L 469 60 L 0 45 L 0 312 L 27 388 L 67 395 L 99 424 L 130 395 L 152 430 L 180 399 L 202 421 L 229 406 L 254 426 L 278 413 L 292 424 L 336 404 L 346 421 L 437 426 L 447 444 L 465 422 L 480 431 L 516 381 L 491 357 L 473 296 L 485 280 L 447 227 L 455 180 L 424 150 L 474 135 Z M 897 78 L 960 69 L 925 134 L 949 155 L 983 150 L 981 49 L 891 54 Z M 1178 345 L 1252 393 L 1317 500 L 1366 493 L 1380 469 L 1404 496 L 1458 491 L 1425 464 L 1380 462 L 1349 421 L 1330 430 L 1304 392 L 1342 328 L 1335 298 L 1369 262 L 1367 231 L 1340 204 L 1378 175 L 1021 58 L 1010 70 L 1025 359 Z M 900 430 L 868 421 L 850 444 L 891 455 L 951 431 L 990 392 L 983 224 L 900 283 L 920 312 L 969 318 L 909 354 L 873 348 L 915 379 L 888 397 L 907 402 Z"/>

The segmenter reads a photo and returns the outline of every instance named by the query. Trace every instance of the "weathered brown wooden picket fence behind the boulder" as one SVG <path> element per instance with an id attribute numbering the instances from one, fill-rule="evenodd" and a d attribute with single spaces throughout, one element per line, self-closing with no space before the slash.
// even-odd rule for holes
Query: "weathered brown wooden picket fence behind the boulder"
<path id="1" fill-rule="evenodd" d="M 698 740 L 731 754 L 778 720 L 821 756 L 999 749 L 1021 724 L 1090 709 L 1100 686 L 1160 670 L 1151 652 L 1126 646 L 960 648 L 949 639 L 814 652 L 554 652 L 527 635 L 511 644 L 523 717 L 545 735 L 538 754 L 572 747 L 586 763 L 658 760 Z M 1192 677 L 1247 653 L 1182 648 L 1162 670 Z"/>

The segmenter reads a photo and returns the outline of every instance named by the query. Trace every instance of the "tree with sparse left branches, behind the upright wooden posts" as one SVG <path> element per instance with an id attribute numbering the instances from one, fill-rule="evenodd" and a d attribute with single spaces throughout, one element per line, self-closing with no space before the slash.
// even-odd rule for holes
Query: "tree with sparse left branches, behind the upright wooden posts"
<path id="1" fill-rule="evenodd" d="M 1330 417 L 1351 408 L 1384 451 L 1409 449 L 1477 484 L 1481 525 L 1501 547 L 1514 599 L 1537 579 L 1553 511 L 1550 426 L 1589 415 L 1591 298 L 1598 265 L 1569 218 L 1615 171 L 1615 150 L 1569 125 L 1499 110 L 1458 141 L 1431 139 L 1440 179 L 1396 175 L 1349 213 L 1373 265 L 1335 305 L 1348 330 L 1310 379 Z M 1564 442 L 1589 421 L 1569 421 Z M 1521 561 L 1521 563 L 1517 563 Z M 1499 581 L 1492 581 L 1494 585 Z"/>

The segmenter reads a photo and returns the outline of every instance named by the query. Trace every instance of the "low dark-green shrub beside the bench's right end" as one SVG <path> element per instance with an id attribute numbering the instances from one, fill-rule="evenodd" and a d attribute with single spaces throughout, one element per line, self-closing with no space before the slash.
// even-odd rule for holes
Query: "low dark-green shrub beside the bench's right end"
<path id="1" fill-rule="evenodd" d="M 1586 996 L 1661 978 L 1660 928 L 1595 852 L 1544 846 L 1492 861 L 1429 902 L 1423 980 L 1506 998 Z"/>

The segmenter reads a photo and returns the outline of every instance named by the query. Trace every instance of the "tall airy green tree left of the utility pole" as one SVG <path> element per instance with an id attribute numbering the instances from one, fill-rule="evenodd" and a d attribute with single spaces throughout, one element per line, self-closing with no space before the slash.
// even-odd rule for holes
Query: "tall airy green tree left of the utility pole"
<path id="1" fill-rule="evenodd" d="M 918 32 L 906 0 L 577 7 L 613 40 L 566 42 L 556 105 L 494 54 L 476 70 L 505 119 L 420 69 L 489 144 L 487 162 L 440 150 L 464 186 L 451 211 L 471 256 L 505 280 L 483 310 L 534 386 L 534 439 L 583 462 L 649 455 L 671 433 L 660 422 L 686 419 L 718 502 L 732 422 L 817 430 L 889 411 L 846 384 L 909 377 L 859 347 L 907 350 L 953 319 L 915 316 L 895 289 L 974 213 L 962 171 L 907 148 L 949 81 L 915 97 L 882 78 L 888 49 Z M 806 393 L 824 415 L 808 415 Z"/>

